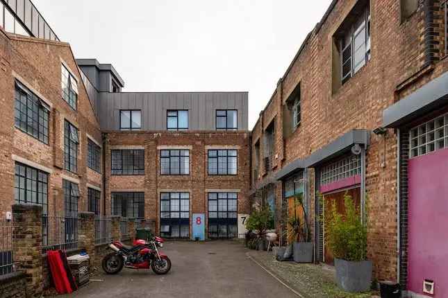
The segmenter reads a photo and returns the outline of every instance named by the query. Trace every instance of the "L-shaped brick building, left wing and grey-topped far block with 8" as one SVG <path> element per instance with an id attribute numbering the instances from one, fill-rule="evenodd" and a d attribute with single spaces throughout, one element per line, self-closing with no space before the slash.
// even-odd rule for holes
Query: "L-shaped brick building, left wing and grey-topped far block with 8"
<path id="1" fill-rule="evenodd" d="M 1 218 L 41 205 L 44 246 L 53 216 L 76 245 L 78 211 L 145 220 L 165 237 L 244 234 L 247 92 L 122 92 L 115 68 L 76 60 L 31 1 L 0 12 Z"/>

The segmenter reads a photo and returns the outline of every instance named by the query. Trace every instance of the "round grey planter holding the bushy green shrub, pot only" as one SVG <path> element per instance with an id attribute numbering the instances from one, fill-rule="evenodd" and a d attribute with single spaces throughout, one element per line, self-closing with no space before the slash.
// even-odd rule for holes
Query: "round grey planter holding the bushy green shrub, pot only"
<path id="1" fill-rule="evenodd" d="M 335 258 L 336 283 L 347 292 L 365 292 L 372 284 L 372 261 L 352 262 Z"/>

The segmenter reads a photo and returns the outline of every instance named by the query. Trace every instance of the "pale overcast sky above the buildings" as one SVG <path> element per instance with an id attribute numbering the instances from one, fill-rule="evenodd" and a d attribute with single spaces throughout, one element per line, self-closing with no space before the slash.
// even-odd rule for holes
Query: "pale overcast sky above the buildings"
<path id="1" fill-rule="evenodd" d="M 33 0 L 123 91 L 249 91 L 249 129 L 331 0 Z"/>

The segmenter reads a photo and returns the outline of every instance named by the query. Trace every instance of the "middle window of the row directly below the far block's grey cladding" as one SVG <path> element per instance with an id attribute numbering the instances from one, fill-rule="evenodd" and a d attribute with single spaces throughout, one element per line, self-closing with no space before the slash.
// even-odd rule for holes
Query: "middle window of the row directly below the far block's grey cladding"
<path id="1" fill-rule="evenodd" d="M 160 175 L 190 175 L 190 150 L 160 150 Z"/>

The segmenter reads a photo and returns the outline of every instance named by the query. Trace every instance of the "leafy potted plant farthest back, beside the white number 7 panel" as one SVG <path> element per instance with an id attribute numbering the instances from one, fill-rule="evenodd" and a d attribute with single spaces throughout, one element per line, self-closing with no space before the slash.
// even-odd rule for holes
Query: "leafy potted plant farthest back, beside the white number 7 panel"
<path id="1" fill-rule="evenodd" d="M 265 234 L 268 229 L 274 226 L 274 218 L 268 206 L 255 209 L 251 212 L 245 223 L 246 229 L 254 231 L 256 234 L 256 243 L 259 250 L 266 250 Z"/>

